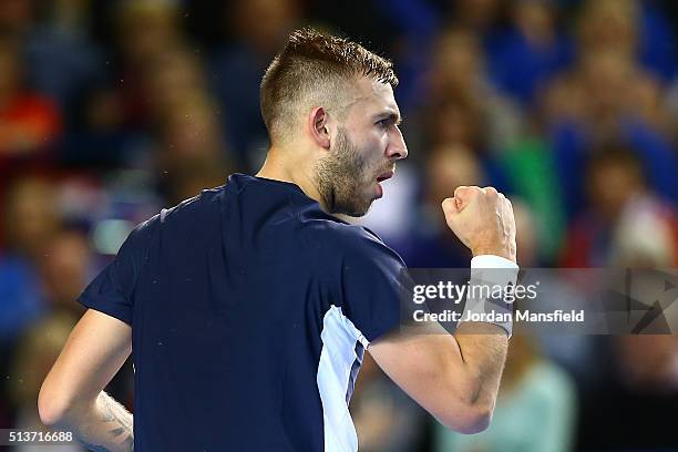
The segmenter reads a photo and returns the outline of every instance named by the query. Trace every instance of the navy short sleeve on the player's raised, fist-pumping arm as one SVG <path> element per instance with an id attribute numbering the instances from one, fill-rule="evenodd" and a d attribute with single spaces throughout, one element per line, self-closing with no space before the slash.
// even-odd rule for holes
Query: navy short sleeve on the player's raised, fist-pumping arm
<path id="1" fill-rule="evenodd" d="M 405 265 L 381 239 L 360 229 L 339 251 L 339 290 L 346 316 L 371 342 L 400 326 Z"/>

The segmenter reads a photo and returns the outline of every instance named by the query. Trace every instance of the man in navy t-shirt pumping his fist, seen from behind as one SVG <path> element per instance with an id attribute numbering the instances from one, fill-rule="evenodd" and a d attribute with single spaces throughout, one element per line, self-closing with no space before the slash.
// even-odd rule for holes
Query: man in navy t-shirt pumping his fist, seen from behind
<path id="1" fill-rule="evenodd" d="M 408 155 L 397 82 L 356 43 L 292 33 L 261 82 L 263 168 L 130 235 L 79 298 L 90 309 L 42 387 L 43 422 L 96 451 L 355 451 L 348 401 L 367 349 L 442 423 L 483 430 L 506 331 L 399 333 L 404 264 L 331 215 L 367 213 Z M 460 187 L 442 206 L 475 264 L 515 268 L 501 194 Z M 134 422 L 102 392 L 131 350 Z"/>

